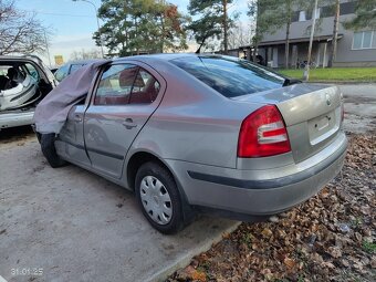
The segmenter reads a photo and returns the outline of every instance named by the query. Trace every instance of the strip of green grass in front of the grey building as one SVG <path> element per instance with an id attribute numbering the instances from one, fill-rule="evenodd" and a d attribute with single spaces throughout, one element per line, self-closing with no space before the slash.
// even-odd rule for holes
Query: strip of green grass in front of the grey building
<path id="1" fill-rule="evenodd" d="M 304 70 L 280 70 L 280 73 L 293 79 L 303 79 Z M 333 67 L 312 69 L 310 71 L 310 82 L 375 82 L 376 67 Z"/>

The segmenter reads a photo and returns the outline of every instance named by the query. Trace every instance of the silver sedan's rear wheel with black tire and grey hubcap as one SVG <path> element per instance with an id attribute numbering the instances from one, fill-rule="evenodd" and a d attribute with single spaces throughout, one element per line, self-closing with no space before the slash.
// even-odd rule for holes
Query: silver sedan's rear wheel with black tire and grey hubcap
<path id="1" fill-rule="evenodd" d="M 184 202 L 174 177 L 165 167 L 154 161 L 142 165 L 135 192 L 144 216 L 156 230 L 173 234 L 184 228 Z"/>

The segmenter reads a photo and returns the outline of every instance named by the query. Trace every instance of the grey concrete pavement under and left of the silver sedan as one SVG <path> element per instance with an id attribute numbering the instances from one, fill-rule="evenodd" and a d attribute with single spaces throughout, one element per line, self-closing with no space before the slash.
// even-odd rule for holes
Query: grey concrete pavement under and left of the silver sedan
<path id="1" fill-rule="evenodd" d="M 0 134 L 0 282 L 159 281 L 238 226 L 199 217 L 163 236 L 132 192 L 51 168 L 29 127 Z"/>

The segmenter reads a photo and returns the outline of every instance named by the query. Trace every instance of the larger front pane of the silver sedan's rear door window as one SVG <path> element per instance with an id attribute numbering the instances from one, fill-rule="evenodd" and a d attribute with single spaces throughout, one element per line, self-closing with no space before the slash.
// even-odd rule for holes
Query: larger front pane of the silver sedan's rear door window
<path id="1" fill-rule="evenodd" d="M 133 64 L 111 65 L 102 74 L 94 105 L 126 105 L 138 66 Z"/>

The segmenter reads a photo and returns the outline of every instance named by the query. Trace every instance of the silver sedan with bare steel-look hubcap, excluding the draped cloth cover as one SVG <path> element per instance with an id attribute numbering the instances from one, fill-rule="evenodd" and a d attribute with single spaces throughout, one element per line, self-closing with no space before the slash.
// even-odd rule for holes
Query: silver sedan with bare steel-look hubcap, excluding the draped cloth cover
<path id="1" fill-rule="evenodd" d="M 174 233 L 198 210 L 248 220 L 317 194 L 343 166 L 343 113 L 336 86 L 244 60 L 133 56 L 101 66 L 41 144 L 52 166 L 69 161 L 134 191 L 152 226 Z"/>

